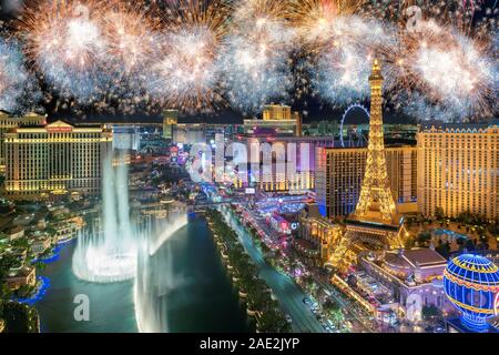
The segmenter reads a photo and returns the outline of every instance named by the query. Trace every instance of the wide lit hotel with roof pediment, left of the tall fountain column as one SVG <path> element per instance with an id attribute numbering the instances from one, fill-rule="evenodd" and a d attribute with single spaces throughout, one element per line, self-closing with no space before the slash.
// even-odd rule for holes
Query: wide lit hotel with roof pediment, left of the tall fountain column
<path id="1" fill-rule="evenodd" d="M 112 132 L 103 125 L 75 126 L 55 121 L 11 129 L 6 133 L 4 148 L 4 184 L 11 197 L 99 194 L 101 162 L 112 151 Z"/>

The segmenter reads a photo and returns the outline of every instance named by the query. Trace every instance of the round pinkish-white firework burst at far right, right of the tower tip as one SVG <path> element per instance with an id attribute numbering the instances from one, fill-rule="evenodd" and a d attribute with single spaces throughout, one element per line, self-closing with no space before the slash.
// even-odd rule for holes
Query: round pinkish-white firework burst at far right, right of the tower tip
<path id="1" fill-rule="evenodd" d="M 490 115 L 497 98 L 497 68 L 479 43 L 451 30 L 415 49 L 410 71 L 419 92 L 456 112 L 457 119 Z"/>

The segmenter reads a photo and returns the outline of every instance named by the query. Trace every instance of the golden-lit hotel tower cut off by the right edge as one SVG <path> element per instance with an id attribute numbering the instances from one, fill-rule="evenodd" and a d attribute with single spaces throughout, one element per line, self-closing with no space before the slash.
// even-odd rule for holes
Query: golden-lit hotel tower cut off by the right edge
<path id="1" fill-rule="evenodd" d="M 456 217 L 471 212 L 499 217 L 499 121 L 420 126 L 418 206 L 426 216 L 437 209 Z"/>

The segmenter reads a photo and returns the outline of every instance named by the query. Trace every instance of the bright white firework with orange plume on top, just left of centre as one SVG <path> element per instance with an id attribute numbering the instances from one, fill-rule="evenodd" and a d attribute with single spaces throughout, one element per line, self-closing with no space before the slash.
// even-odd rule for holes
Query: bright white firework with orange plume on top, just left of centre
<path id="1" fill-rule="evenodd" d="M 226 33 L 227 7 L 206 1 L 177 3 L 165 12 L 157 61 L 149 89 L 163 105 L 210 112 L 223 104 L 216 58 Z"/>

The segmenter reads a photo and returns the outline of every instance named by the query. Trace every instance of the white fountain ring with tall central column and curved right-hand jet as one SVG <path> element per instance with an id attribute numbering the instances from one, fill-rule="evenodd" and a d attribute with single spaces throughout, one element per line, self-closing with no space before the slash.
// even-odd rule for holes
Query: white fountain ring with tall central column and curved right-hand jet
<path id="1" fill-rule="evenodd" d="M 118 161 L 122 162 L 123 156 Z M 187 223 L 185 211 L 170 213 L 161 231 L 135 225 L 130 220 L 129 168 L 113 164 L 113 154 L 104 158 L 102 176 L 102 211 L 98 224 L 81 231 L 73 254 L 77 277 L 94 283 L 114 283 L 135 278 L 138 272 L 149 273 L 147 258 L 139 255 L 144 248 L 153 255 L 166 240 Z M 138 260 L 141 260 L 138 268 Z M 135 295 L 138 298 L 138 295 Z M 139 295 L 140 298 L 140 295 Z"/>

